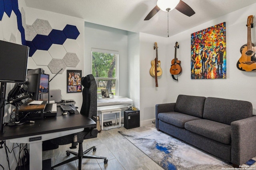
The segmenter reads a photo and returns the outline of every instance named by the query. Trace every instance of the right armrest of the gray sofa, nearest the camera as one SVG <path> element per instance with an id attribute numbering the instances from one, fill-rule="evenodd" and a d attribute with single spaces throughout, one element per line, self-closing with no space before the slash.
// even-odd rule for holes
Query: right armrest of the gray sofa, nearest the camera
<path id="1" fill-rule="evenodd" d="M 231 162 L 242 165 L 256 155 L 256 116 L 231 122 Z"/>

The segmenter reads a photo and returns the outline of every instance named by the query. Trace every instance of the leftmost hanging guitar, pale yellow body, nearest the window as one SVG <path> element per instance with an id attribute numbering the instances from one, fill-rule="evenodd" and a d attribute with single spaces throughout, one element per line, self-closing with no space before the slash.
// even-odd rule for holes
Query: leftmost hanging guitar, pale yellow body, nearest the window
<path id="1" fill-rule="evenodd" d="M 157 54 L 158 47 L 156 42 L 154 43 L 154 49 L 156 50 L 156 58 L 151 61 L 151 68 L 149 73 L 152 77 L 155 77 L 156 87 L 158 87 L 157 76 L 162 75 L 162 68 L 160 67 L 161 62 L 158 61 L 158 54 Z"/>

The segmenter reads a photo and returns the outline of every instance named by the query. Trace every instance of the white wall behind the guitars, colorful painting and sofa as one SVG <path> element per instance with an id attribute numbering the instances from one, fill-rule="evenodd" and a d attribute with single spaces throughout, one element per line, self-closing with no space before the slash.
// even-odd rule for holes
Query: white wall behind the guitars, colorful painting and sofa
<path id="1" fill-rule="evenodd" d="M 140 36 L 140 110 L 142 121 L 154 119 L 155 104 L 176 102 L 179 94 L 211 96 L 218 98 L 246 100 L 252 103 L 256 114 L 256 72 L 243 72 L 236 68 L 241 57 L 240 47 L 247 43 L 247 17 L 253 13 L 256 4 L 232 12 L 215 20 L 208 21 L 192 29 L 169 38 L 152 35 Z M 191 79 L 190 78 L 190 35 L 196 31 L 226 22 L 226 79 Z M 256 44 L 256 29 L 252 28 L 252 42 Z M 145 41 L 144 41 L 145 39 Z M 153 43 L 158 43 L 158 59 L 161 61 L 163 74 L 158 78 L 158 88 L 154 87 L 154 78 L 148 72 L 150 61 L 154 59 Z M 168 43 L 166 44 L 166 41 Z M 171 60 L 174 58 L 174 45 L 178 41 L 177 58 L 181 61 L 182 73 L 178 82 L 170 74 Z M 142 63 L 143 61 L 143 63 Z"/>

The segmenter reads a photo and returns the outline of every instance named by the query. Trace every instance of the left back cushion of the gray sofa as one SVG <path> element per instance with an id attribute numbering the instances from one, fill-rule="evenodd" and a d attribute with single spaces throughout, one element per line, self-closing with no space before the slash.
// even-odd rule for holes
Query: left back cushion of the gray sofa
<path id="1" fill-rule="evenodd" d="M 196 117 L 203 117 L 205 97 L 187 96 L 180 94 L 177 98 L 174 111 Z"/>

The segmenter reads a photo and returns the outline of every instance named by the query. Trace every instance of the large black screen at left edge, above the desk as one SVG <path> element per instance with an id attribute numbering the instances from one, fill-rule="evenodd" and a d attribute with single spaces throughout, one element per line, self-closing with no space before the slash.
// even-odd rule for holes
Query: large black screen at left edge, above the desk
<path id="1" fill-rule="evenodd" d="M 0 82 L 25 82 L 29 47 L 0 40 Z"/>

